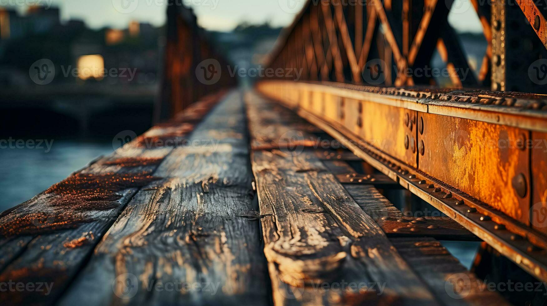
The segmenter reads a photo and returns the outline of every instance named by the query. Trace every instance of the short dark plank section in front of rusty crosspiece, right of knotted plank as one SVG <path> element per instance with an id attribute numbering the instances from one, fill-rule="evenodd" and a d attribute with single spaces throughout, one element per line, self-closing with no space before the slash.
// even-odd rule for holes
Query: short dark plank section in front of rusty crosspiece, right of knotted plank
<path id="1" fill-rule="evenodd" d="M 399 254 L 446 305 L 507 305 L 433 238 L 391 238 Z"/>

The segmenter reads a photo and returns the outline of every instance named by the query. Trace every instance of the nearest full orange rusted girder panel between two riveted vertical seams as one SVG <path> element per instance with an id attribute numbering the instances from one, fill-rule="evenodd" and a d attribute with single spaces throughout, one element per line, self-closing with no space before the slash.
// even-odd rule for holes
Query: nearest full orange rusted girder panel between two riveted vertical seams
<path id="1" fill-rule="evenodd" d="M 423 134 L 418 132 L 423 155 L 418 168 L 455 186 L 513 219 L 528 223 L 529 192 L 515 184 L 520 175 L 529 190 L 528 152 L 517 148 L 526 131 L 457 117 L 418 113 Z M 522 188 L 522 187 L 520 187 Z"/>

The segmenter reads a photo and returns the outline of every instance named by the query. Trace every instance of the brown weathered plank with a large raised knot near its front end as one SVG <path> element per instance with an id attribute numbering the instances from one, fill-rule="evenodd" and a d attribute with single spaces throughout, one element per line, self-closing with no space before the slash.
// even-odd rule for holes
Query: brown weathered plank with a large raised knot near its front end
<path id="1" fill-rule="evenodd" d="M 263 101 L 248 96 L 247 102 L 253 135 L 263 131 Z M 437 304 L 316 156 L 254 150 L 251 162 L 275 304 Z M 340 289 L 342 279 L 370 290 Z M 373 294 L 371 284 L 385 291 Z"/>

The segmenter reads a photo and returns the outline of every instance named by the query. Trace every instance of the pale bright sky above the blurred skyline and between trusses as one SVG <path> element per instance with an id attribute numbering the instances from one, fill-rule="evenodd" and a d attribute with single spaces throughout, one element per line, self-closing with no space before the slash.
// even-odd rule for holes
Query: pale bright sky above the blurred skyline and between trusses
<path id="1" fill-rule="evenodd" d="M 230 31 L 247 21 L 274 26 L 289 25 L 306 0 L 177 0 L 194 8 L 200 26 L 207 30 Z M 160 26 L 165 22 L 168 0 L 0 0 L 24 11 L 38 3 L 61 9 L 61 19 L 82 19 L 91 28 L 126 28 L 131 20 Z M 470 0 L 456 0 L 449 22 L 460 32 L 481 32 Z"/>

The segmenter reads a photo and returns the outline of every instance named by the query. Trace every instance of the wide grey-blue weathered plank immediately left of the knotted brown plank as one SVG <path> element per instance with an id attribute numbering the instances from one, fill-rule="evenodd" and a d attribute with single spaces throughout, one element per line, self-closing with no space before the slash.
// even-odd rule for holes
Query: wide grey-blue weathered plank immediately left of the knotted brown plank
<path id="1" fill-rule="evenodd" d="M 165 158 L 61 305 L 270 303 L 244 116 L 232 93 Z"/>

